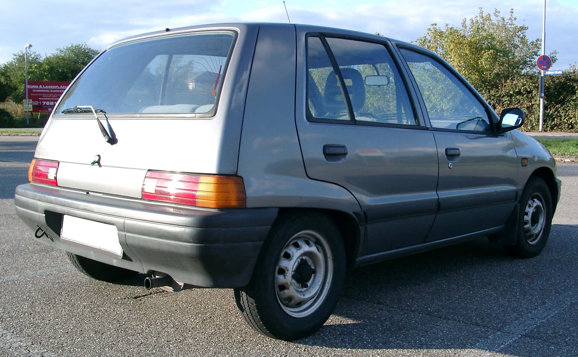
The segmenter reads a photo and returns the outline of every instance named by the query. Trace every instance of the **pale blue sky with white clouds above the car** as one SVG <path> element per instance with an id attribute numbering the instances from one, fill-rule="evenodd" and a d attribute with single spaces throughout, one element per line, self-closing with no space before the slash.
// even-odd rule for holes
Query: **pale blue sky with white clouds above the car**
<path id="1" fill-rule="evenodd" d="M 459 27 L 483 8 L 504 17 L 514 9 L 529 39 L 542 38 L 543 0 L 286 0 L 291 23 L 324 25 L 411 42 L 432 23 Z M 103 50 L 128 36 L 190 25 L 287 22 L 283 1 L 259 0 L 0 0 L 0 63 L 28 43 L 46 56 L 73 43 Z M 578 62 L 578 0 L 546 0 L 546 54 L 552 69 Z"/>

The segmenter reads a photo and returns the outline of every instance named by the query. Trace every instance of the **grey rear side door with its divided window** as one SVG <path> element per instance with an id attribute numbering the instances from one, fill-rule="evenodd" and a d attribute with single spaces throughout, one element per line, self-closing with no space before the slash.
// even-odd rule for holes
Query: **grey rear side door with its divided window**
<path id="1" fill-rule="evenodd" d="M 360 256 L 423 243 L 437 207 L 438 157 L 407 77 L 385 41 L 306 32 L 298 27 L 307 60 L 297 56 L 304 91 L 296 122 L 307 176 L 357 198 L 366 220 Z"/>

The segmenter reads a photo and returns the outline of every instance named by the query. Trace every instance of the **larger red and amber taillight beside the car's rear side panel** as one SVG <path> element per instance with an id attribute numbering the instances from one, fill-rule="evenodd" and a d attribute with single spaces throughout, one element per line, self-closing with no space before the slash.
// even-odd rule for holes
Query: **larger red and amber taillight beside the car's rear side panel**
<path id="1" fill-rule="evenodd" d="M 239 176 L 214 176 L 163 171 L 146 173 L 142 198 L 216 209 L 245 206 L 245 187 Z"/>

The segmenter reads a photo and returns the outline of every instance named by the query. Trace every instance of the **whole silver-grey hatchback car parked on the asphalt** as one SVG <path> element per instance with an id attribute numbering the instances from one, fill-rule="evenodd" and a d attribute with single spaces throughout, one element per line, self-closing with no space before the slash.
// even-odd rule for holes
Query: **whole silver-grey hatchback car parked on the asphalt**
<path id="1" fill-rule="evenodd" d="M 319 329 L 347 267 L 488 236 L 542 251 L 550 153 L 437 55 L 293 24 L 127 38 L 62 95 L 18 215 L 103 281 L 234 288 L 284 340 Z"/>

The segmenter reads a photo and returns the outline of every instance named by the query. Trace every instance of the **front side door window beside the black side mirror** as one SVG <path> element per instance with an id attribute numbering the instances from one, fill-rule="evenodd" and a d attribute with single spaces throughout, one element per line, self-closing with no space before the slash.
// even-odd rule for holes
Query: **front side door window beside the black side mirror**
<path id="1" fill-rule="evenodd" d="M 400 50 L 416 80 L 433 128 L 491 130 L 486 109 L 457 76 L 428 55 Z"/>

